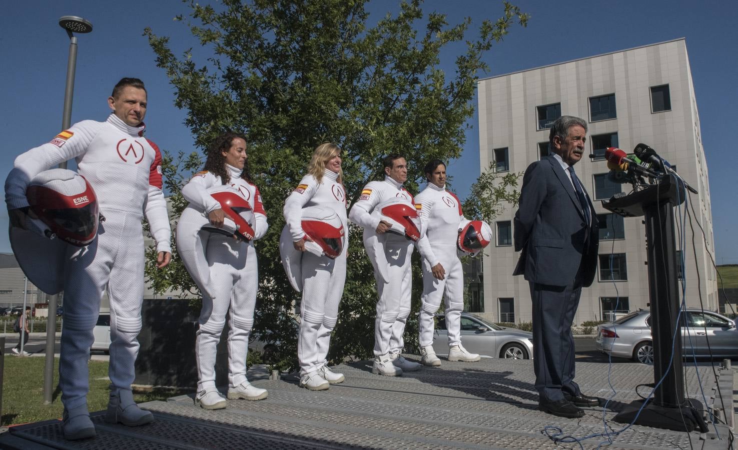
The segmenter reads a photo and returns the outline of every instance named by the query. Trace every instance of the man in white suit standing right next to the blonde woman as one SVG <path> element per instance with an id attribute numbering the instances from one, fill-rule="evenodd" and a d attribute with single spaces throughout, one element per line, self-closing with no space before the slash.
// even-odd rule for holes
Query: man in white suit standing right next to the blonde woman
<path id="1" fill-rule="evenodd" d="M 407 316 L 410 315 L 410 294 L 413 275 L 410 270 L 410 256 L 415 243 L 404 236 L 387 232 L 390 224 L 378 215 L 374 208 L 391 198 L 404 198 L 413 203 L 413 195 L 402 187 L 407 180 L 407 162 L 402 156 L 393 154 L 384 158 L 384 180 L 370 181 L 362 190 L 359 200 L 351 207 L 349 220 L 364 228 L 364 246 L 374 267 L 376 290 L 379 300 L 376 304 L 374 325 L 374 364 L 373 373 L 379 375 L 402 375 L 403 370 L 418 370 L 421 365 L 407 361 L 401 355 Z M 375 245 L 378 244 L 378 245 Z M 377 252 L 383 252 L 379 259 L 386 260 L 384 268 L 378 266 Z"/>

